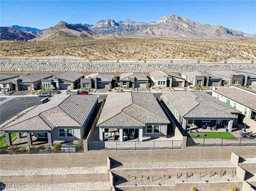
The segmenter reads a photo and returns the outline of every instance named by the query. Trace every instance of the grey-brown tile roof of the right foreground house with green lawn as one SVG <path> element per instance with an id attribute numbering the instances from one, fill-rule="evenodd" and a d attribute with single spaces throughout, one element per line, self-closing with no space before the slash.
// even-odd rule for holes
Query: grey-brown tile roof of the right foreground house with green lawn
<path id="1" fill-rule="evenodd" d="M 205 92 L 163 91 L 163 95 L 184 118 L 234 118 L 232 113 L 240 113 Z"/>

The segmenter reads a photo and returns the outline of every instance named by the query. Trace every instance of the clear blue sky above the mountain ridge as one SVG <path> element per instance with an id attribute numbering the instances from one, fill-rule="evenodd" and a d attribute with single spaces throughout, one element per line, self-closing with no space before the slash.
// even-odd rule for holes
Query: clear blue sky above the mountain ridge
<path id="1" fill-rule="evenodd" d="M 218 24 L 249 34 L 256 33 L 255 0 L 0 0 L 0 12 L 0 26 L 45 29 L 60 21 L 95 24 L 104 19 L 116 22 L 130 19 L 148 23 L 175 14 L 201 24 Z"/>

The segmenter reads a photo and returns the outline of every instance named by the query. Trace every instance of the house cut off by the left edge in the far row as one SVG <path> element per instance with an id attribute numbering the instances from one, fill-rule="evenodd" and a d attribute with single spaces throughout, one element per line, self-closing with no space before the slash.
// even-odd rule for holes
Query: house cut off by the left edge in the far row
<path id="1" fill-rule="evenodd" d="M 0 89 L 5 91 L 15 90 L 15 84 L 13 79 L 19 77 L 19 75 L 13 74 L 0 74 Z"/>

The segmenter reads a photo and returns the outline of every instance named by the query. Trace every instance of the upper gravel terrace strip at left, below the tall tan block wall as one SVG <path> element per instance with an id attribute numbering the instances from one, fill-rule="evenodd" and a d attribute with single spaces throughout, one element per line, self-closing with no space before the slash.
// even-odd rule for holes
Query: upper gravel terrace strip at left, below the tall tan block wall
<path id="1" fill-rule="evenodd" d="M 2 176 L 8 176 L 8 175 L 80 174 L 80 173 L 107 173 L 107 167 L 106 166 L 100 166 L 100 167 L 1 169 L 1 175 Z"/>

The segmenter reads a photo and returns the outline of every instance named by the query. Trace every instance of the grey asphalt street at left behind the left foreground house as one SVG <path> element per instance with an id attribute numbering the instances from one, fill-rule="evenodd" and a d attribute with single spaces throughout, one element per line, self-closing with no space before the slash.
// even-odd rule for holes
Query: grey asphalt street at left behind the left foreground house
<path id="1" fill-rule="evenodd" d="M 0 97 L 0 124 L 3 124 L 20 112 L 26 110 L 26 104 L 24 103 L 25 99 L 28 101 L 27 107 L 30 108 L 32 106 L 38 105 L 39 100 L 42 98 L 37 96 L 17 96 L 15 98 L 12 96 L 7 98 Z"/>

